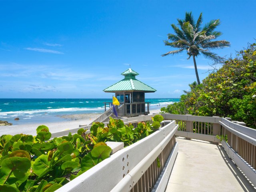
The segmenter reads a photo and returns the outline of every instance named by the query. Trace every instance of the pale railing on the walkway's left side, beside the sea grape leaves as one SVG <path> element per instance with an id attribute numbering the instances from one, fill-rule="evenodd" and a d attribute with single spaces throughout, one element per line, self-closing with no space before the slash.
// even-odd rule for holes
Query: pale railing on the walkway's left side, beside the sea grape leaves
<path id="1" fill-rule="evenodd" d="M 125 124 L 152 122 L 152 117 L 138 116 L 122 119 Z M 175 121 L 165 121 L 162 128 L 148 137 L 112 154 L 84 174 L 59 188 L 58 192 L 79 191 L 159 191 L 166 188 L 168 177 L 178 153 Z M 91 125 L 84 126 L 90 130 Z M 79 128 L 52 134 L 64 136 Z M 157 166 L 159 160 L 160 166 Z"/>

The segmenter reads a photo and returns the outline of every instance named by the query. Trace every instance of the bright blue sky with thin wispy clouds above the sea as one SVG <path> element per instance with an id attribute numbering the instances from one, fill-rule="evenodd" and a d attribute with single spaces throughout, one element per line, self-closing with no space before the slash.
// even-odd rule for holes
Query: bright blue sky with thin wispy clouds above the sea
<path id="1" fill-rule="evenodd" d="M 162 57 L 170 24 L 185 12 L 203 25 L 220 19 L 218 40 L 235 56 L 255 42 L 256 1 L 104 0 L 0 1 L 0 98 L 108 98 L 102 90 L 123 78 L 124 70 L 152 86 L 147 98 L 178 98 L 196 81 L 186 52 Z M 196 58 L 200 80 L 212 61 Z"/>

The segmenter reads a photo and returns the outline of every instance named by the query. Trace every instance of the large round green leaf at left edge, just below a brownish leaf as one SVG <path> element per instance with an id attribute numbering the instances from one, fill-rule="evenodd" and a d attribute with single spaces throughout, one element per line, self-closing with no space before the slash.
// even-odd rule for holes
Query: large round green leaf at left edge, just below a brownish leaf
<path id="1" fill-rule="evenodd" d="M 10 172 L 13 172 L 14 176 L 20 179 L 25 177 L 26 172 L 31 167 L 31 162 L 28 158 L 10 157 L 3 160 L 1 166 L 1 171 L 4 174 L 10 174 Z"/>

